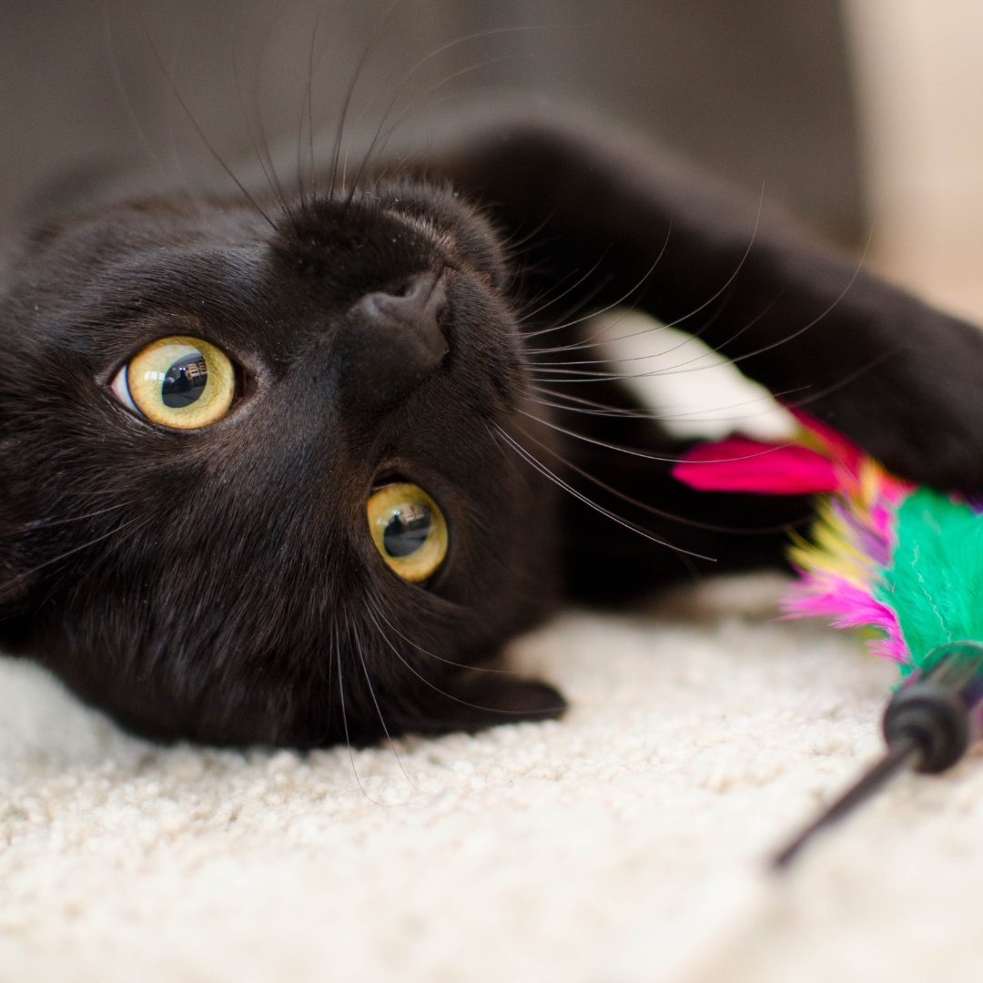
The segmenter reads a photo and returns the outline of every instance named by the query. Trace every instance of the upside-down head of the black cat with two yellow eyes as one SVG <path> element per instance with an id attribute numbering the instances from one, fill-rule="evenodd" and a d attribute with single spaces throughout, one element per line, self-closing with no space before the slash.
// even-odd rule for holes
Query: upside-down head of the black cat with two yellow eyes
<path id="1" fill-rule="evenodd" d="M 473 668 L 554 594 L 492 229 L 426 185 L 263 212 L 109 206 L 14 264 L 3 644 L 161 737 L 555 714 Z"/>

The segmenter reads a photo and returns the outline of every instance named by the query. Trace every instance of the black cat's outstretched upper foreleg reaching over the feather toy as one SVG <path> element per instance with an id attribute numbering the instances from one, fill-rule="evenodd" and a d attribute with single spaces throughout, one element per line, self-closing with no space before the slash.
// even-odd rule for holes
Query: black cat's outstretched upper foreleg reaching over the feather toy
<path id="1" fill-rule="evenodd" d="M 526 240 L 527 282 L 563 292 L 557 316 L 630 300 L 897 474 L 983 492 L 983 334 L 857 257 L 597 120 L 500 125 L 429 168 Z"/>

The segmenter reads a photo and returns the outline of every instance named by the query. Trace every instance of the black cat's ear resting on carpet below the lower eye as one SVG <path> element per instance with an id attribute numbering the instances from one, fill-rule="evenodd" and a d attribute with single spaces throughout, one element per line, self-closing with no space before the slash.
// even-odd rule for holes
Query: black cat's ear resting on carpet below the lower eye
<path id="1" fill-rule="evenodd" d="M 462 678 L 441 680 L 440 692 L 432 690 L 422 709 L 422 720 L 412 729 L 442 733 L 483 730 L 499 723 L 555 720 L 566 710 L 566 700 L 538 679 L 474 669 Z"/>

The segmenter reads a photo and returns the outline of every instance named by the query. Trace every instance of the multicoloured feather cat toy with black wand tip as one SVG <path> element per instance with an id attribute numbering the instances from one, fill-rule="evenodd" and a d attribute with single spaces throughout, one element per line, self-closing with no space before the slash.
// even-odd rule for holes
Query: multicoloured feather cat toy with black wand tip
<path id="1" fill-rule="evenodd" d="M 901 481 L 793 412 L 800 429 L 787 444 L 731 436 L 697 445 L 673 469 L 702 491 L 820 494 L 809 538 L 792 534 L 799 580 L 782 613 L 862 628 L 867 648 L 899 669 L 882 724 L 886 753 L 776 855 L 780 870 L 904 768 L 951 768 L 983 723 L 983 501 Z"/>

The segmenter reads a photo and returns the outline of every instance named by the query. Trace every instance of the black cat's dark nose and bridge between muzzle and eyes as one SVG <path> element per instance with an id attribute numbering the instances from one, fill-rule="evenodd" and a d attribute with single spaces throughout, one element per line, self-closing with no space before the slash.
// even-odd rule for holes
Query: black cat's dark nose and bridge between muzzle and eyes
<path id="1" fill-rule="evenodd" d="M 405 399 L 440 365 L 447 339 L 446 270 L 420 273 L 392 290 L 366 294 L 341 339 L 340 392 L 350 409 L 384 410 Z"/>

